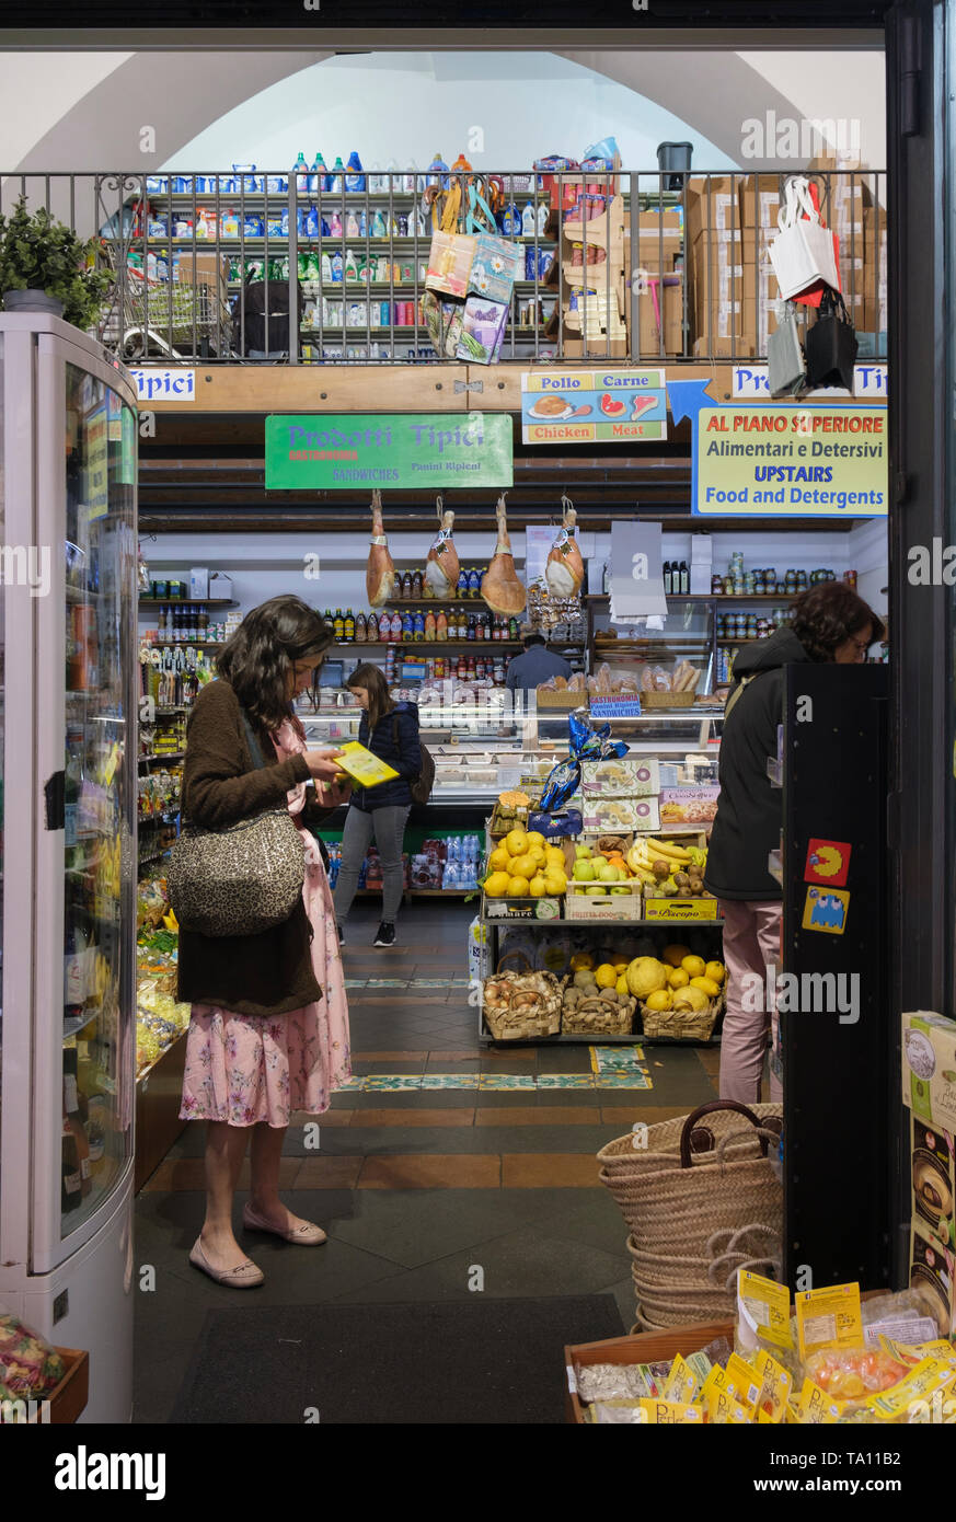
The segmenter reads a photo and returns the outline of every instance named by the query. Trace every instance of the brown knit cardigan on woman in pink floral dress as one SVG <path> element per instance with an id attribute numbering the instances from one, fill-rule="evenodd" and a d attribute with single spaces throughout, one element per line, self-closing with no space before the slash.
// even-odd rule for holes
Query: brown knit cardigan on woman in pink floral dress
<path id="1" fill-rule="evenodd" d="M 272 743 L 257 735 L 262 755 Z M 309 781 L 301 755 L 254 770 L 239 699 L 219 679 L 196 697 L 186 729 L 183 817 L 221 829 L 286 801 Z M 317 823 L 327 808 L 306 802 L 303 823 Z M 286 1015 L 321 998 L 312 971 L 312 927 L 300 898 L 285 924 L 257 936 L 202 936 L 180 930 L 178 997 L 186 1005 L 218 1005 L 239 1015 Z"/>

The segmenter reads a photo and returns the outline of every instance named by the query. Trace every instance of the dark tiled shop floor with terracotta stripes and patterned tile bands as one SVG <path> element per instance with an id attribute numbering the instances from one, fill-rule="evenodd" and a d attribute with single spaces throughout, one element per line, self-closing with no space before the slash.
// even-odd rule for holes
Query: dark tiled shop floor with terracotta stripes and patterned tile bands
<path id="1" fill-rule="evenodd" d="M 627 1233 L 595 1154 L 636 1120 L 715 1097 L 719 1052 L 480 1046 L 470 918 L 460 904 L 416 904 L 391 950 L 371 948 L 371 909 L 350 918 L 355 1079 L 318 1117 L 318 1149 L 311 1117 L 294 1117 L 282 1161 L 289 1204 L 329 1242 L 303 1250 L 241 1233 L 266 1274 L 251 1303 L 466 1298 L 478 1263 L 489 1295 L 612 1292 L 623 1326 L 633 1323 Z M 248 1163 L 236 1216 L 247 1189 Z M 137 1297 L 142 1423 L 167 1420 L 206 1312 L 236 1300 L 187 1262 L 202 1205 L 202 1128 L 192 1125 L 137 1198 L 137 1262 L 155 1268 L 155 1292 Z"/>

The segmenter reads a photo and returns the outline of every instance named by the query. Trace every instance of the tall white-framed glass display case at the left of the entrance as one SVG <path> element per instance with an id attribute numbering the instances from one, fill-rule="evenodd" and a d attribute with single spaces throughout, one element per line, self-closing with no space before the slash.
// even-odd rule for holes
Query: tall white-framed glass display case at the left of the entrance
<path id="1" fill-rule="evenodd" d="M 132 1408 L 135 388 L 49 317 L 0 317 L 0 1303 Z M 11 743 L 6 744 L 9 737 Z M 27 743 L 24 743 L 27 737 Z"/>

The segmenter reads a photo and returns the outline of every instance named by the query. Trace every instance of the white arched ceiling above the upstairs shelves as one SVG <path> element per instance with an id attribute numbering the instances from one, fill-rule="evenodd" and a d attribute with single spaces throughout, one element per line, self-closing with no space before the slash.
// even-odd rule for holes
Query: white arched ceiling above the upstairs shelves
<path id="1" fill-rule="evenodd" d="M 152 169 L 169 163 L 227 113 L 329 56 L 321 49 L 0 53 L 0 151 L 6 160 L 0 169 Z M 437 56 L 441 78 L 448 79 L 455 55 Z M 862 123 L 863 161 L 883 167 L 883 55 L 875 50 L 811 55 L 565 50 L 559 56 L 673 113 L 741 167 L 775 163 L 740 158 L 743 120 L 763 119 L 770 111 L 778 119 L 856 117 Z M 400 59 L 396 67 L 402 67 Z M 140 152 L 143 125 L 157 132 L 157 155 L 151 158 Z"/>

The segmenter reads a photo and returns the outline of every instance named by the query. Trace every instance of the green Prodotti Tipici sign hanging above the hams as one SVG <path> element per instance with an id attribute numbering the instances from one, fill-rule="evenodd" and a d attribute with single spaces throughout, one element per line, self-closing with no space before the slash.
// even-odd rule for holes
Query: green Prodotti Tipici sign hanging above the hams
<path id="1" fill-rule="evenodd" d="M 266 492 L 408 492 L 515 479 L 507 412 L 274 414 L 265 420 Z"/>

